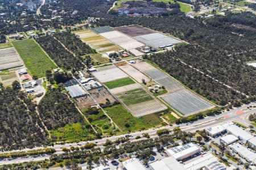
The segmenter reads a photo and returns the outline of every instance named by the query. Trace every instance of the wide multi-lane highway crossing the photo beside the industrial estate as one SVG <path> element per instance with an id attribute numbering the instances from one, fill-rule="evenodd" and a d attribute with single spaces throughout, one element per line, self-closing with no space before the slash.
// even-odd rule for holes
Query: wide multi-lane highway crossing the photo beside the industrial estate
<path id="1" fill-rule="evenodd" d="M 248 107 L 251 107 L 251 108 L 247 109 Z M 142 136 L 142 133 L 148 133 L 151 138 L 155 138 L 155 137 L 157 137 L 156 131 L 158 131 L 159 129 L 173 130 L 174 128 L 176 128 L 178 126 L 180 127 L 181 130 L 187 131 L 187 132 L 188 131 L 195 132 L 196 130 L 202 130 L 202 129 L 208 128 L 210 126 L 223 124 L 224 122 L 228 122 L 228 121 L 239 121 L 242 124 L 249 126 L 250 124 L 249 124 L 249 122 L 247 122 L 246 117 L 249 116 L 249 114 L 254 113 L 254 112 L 256 112 L 256 103 L 250 103 L 247 105 L 243 105 L 242 107 L 234 108 L 230 111 L 221 113 L 217 116 L 206 117 L 203 120 L 198 120 L 196 122 L 193 122 L 193 124 L 163 126 L 161 128 L 148 129 L 148 130 L 144 130 L 144 131 L 136 131 L 134 133 L 129 134 L 129 135 L 133 136 L 133 137 L 130 137 L 130 141 L 140 140 L 140 139 L 135 139 L 135 137 L 138 135 Z M 94 141 L 86 141 L 86 142 L 96 143 L 98 147 L 101 147 L 106 142 L 106 139 L 109 139 L 110 141 L 115 141 L 116 139 L 118 139 L 120 137 L 125 137 L 125 135 L 126 134 L 116 135 L 113 137 L 102 138 L 102 139 L 97 139 Z M 141 138 L 141 139 L 143 139 L 143 138 Z M 56 150 L 55 154 L 61 154 L 61 153 L 63 153 L 63 151 L 62 151 L 63 147 L 69 148 L 71 146 L 85 145 L 86 142 L 65 143 L 64 145 L 55 145 L 52 148 L 54 148 Z M 33 149 L 39 149 L 39 148 L 43 148 L 43 147 L 35 147 Z M 28 151 L 28 150 L 31 150 L 31 149 L 27 148 L 24 150 L 16 150 L 16 151 Z M 3 153 L 3 152 L 0 152 L 0 154 L 1 153 Z M 18 158 L 18 159 L 11 159 L 11 160 L 1 160 L 0 165 L 22 163 L 22 162 L 34 162 L 35 160 L 44 160 L 44 159 L 49 159 L 49 155 L 39 156 L 37 158 L 28 157 L 26 159 Z"/>

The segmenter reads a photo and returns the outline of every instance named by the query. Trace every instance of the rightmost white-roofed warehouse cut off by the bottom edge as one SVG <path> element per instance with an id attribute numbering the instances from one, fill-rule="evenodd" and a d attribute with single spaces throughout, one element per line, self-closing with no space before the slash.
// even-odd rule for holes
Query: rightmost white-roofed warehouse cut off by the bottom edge
<path id="1" fill-rule="evenodd" d="M 184 165 L 187 170 L 199 170 L 199 169 L 207 169 L 207 170 L 225 170 L 226 167 L 224 164 L 218 162 L 217 158 L 215 158 L 212 154 L 205 154 L 199 157 L 199 159 L 193 160 L 193 162 L 189 162 Z"/>

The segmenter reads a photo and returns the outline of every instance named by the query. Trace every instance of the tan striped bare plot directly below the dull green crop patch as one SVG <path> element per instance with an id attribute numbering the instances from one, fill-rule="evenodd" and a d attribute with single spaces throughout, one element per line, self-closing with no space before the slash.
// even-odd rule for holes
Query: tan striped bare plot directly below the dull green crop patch
<path id="1" fill-rule="evenodd" d="M 130 110 L 131 114 L 133 114 L 134 117 L 141 117 L 147 114 L 156 113 L 167 109 L 165 105 L 163 105 L 156 99 L 145 101 L 143 103 L 129 105 L 127 108 Z"/>

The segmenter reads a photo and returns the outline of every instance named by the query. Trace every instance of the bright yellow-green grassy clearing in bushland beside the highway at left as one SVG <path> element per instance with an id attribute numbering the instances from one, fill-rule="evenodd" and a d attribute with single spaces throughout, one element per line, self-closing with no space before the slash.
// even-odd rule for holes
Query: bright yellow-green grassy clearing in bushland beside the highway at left
<path id="1" fill-rule="evenodd" d="M 52 139 L 56 139 L 56 141 L 79 142 L 90 137 L 94 138 L 94 134 L 90 133 L 91 129 L 86 129 L 86 125 L 78 122 L 65 125 L 64 128 L 51 130 Z"/>

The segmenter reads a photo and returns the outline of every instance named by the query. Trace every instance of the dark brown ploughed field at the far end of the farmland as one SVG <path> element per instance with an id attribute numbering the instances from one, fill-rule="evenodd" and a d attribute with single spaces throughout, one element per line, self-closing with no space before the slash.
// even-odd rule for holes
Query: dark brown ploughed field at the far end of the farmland
<path id="1" fill-rule="evenodd" d="M 150 34 L 150 33 L 155 33 L 151 29 L 147 29 L 147 28 L 144 28 L 144 27 L 139 26 L 139 25 L 130 25 L 130 26 L 127 26 L 127 27 L 119 27 L 119 28 L 115 28 L 115 30 L 117 30 L 119 32 L 122 32 L 122 33 L 125 33 L 126 35 L 129 35 L 131 37 L 147 35 L 147 34 Z"/>

